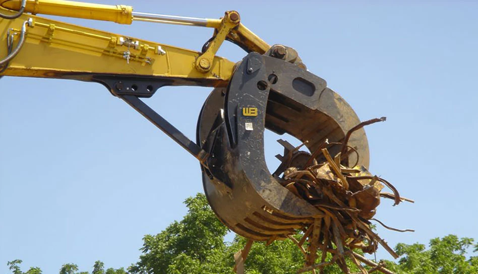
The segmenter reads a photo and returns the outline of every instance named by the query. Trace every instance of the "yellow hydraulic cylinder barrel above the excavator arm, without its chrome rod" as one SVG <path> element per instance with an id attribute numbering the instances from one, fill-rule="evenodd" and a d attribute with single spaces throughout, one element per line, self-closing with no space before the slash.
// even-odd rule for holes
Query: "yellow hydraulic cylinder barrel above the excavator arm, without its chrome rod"
<path id="1" fill-rule="evenodd" d="M 19 10 L 20 3 L 21 0 L 0 0 L 0 6 L 10 10 Z M 25 12 L 111 21 L 119 24 L 131 24 L 133 22 L 133 7 L 125 5 L 112 6 L 61 0 L 27 0 Z"/>

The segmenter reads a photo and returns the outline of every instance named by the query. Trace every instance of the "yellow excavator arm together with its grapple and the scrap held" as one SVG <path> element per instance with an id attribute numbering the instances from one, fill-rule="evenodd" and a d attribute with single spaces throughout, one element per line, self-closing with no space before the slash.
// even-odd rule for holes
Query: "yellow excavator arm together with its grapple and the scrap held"
<path id="1" fill-rule="evenodd" d="M 33 14 L 202 26 L 214 33 L 201 51 L 192 51 Z M 361 122 L 325 80 L 307 71 L 293 48 L 269 46 L 242 25 L 235 11 L 201 19 L 138 13 L 123 5 L 0 0 L 0 18 L 0 44 L 6 45 L 0 47 L 0 77 L 100 83 L 199 160 L 211 208 L 224 225 L 249 239 L 235 256 L 238 271 L 253 241 L 288 238 L 304 253 L 300 271 L 323 272 L 337 263 L 348 273 L 349 257 L 362 273 L 368 271 L 363 264 L 391 273 L 353 252 L 371 253 L 380 243 L 396 257 L 370 229 L 380 197 L 395 204 L 408 200 L 368 172 L 363 127 L 384 118 Z M 225 40 L 243 48 L 246 57 L 233 63 L 216 56 Z M 214 87 L 199 115 L 196 142 L 142 100 L 164 86 Z M 284 154 L 276 156 L 281 164 L 270 172 L 266 129 L 293 136 L 308 151 L 279 140 Z M 393 193 L 381 192 L 384 185 Z M 292 237 L 297 231 L 303 233 L 301 240 Z M 332 260 L 325 261 L 327 253 Z"/>

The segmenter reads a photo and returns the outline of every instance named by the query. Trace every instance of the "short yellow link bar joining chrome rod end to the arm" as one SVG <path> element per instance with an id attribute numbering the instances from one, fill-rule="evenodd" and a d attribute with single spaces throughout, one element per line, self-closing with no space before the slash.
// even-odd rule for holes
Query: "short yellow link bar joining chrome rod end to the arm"
<path id="1" fill-rule="evenodd" d="M 239 24 L 241 18 L 235 11 L 229 11 L 224 14 L 221 26 L 217 29 L 217 33 L 209 42 L 207 50 L 196 59 L 196 68 L 201 72 L 208 72 L 211 69 L 211 63 L 216 55 L 217 50 L 226 39 L 229 32 Z"/>

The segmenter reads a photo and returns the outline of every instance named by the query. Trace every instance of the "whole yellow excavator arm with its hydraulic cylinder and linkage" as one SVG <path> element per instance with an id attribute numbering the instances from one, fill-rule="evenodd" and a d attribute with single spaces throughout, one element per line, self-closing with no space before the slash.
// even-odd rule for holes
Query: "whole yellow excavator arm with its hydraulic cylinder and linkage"
<path id="1" fill-rule="evenodd" d="M 264 53 L 269 45 L 240 23 L 237 12 L 222 19 L 200 19 L 135 13 L 130 6 L 72 1 L 0 0 L 0 12 L 18 18 L 0 21 L 0 44 L 12 49 L 2 75 L 91 81 L 94 74 L 163 77 L 174 84 L 219 87 L 227 85 L 233 63 L 215 56 L 227 38 L 249 51 Z M 5 10 L 8 9 L 8 10 Z M 211 27 L 215 35 L 204 52 L 108 33 L 34 16 L 47 14 L 131 24 L 133 21 Z M 22 37 L 24 39 L 21 39 Z M 8 43 L 10 41 L 10 43 Z M 15 46 L 13 44 L 16 44 Z M 0 47 L 0 56 L 9 56 Z M 0 59 L 1 60 L 1 59 Z M 0 63 L 6 66 L 7 62 Z"/>

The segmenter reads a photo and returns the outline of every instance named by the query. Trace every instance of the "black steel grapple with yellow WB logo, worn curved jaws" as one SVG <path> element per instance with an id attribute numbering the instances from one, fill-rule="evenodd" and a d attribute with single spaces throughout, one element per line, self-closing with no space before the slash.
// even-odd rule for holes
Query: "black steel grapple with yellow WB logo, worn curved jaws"
<path id="1" fill-rule="evenodd" d="M 250 53 L 237 66 L 229 86 L 213 90 L 204 103 L 197 142 L 210 157 L 203 168 L 206 196 L 219 219 L 249 239 L 285 238 L 321 213 L 278 182 L 264 155 L 264 130 L 288 133 L 313 152 L 328 140 L 340 142 L 360 123 L 352 108 L 325 80 L 290 62 Z M 368 167 L 363 129 L 348 145 Z M 329 147 L 332 156 L 341 146 Z M 276 174 L 277 175 L 277 174 Z"/>

